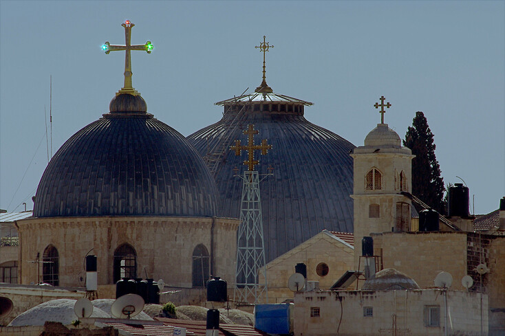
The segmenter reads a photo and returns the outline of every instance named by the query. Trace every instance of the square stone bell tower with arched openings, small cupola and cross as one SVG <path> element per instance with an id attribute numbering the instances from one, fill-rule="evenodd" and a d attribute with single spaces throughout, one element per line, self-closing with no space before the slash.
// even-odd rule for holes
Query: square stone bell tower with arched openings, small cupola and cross
<path id="1" fill-rule="evenodd" d="M 403 147 L 398 134 L 381 122 L 365 138 L 365 146 L 354 148 L 354 266 L 358 269 L 361 240 L 372 232 L 410 231 L 411 200 L 402 192 L 411 192 L 411 150 Z M 376 253 L 375 253 L 376 254 Z M 363 268 L 363 265 L 361 265 Z"/>

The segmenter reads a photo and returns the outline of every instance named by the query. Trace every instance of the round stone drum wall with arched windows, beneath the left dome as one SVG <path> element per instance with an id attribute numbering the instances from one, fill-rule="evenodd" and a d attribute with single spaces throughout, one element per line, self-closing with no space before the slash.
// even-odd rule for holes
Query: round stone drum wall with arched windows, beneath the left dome
<path id="1" fill-rule="evenodd" d="M 235 276 L 236 231 L 239 220 L 193 217 L 49 218 L 18 221 L 21 283 L 38 282 L 37 253 L 48 245 L 59 254 L 59 280 L 64 286 L 84 286 L 83 261 L 91 251 L 98 260 L 98 284 L 114 284 L 114 251 L 131 245 L 137 254 L 137 276 L 168 286 L 192 287 L 193 249 L 203 244 L 211 254 L 211 272 Z M 214 253 L 212 253 L 214 251 Z M 107 293 L 107 296 L 109 293 Z"/>

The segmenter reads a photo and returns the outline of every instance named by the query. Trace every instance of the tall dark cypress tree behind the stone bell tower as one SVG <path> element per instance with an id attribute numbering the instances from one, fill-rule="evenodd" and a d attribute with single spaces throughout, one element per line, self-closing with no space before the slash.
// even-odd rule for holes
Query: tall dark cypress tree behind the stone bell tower
<path id="1" fill-rule="evenodd" d="M 403 146 L 412 150 L 412 194 L 427 203 L 440 214 L 446 214 L 444 179 L 435 155 L 433 133 L 429 129 L 424 113 L 416 112 L 412 127 L 409 127 Z"/>

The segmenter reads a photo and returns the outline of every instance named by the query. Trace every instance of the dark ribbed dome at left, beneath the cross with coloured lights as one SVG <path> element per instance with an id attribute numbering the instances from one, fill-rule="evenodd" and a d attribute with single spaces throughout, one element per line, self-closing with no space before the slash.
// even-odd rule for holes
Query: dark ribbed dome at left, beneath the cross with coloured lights
<path id="1" fill-rule="evenodd" d="M 36 192 L 34 216 L 215 216 L 217 188 L 184 137 L 121 97 L 61 146 Z M 118 99 L 119 98 L 119 99 Z M 131 98 L 131 99 L 130 99 Z M 145 102 L 144 102 L 145 105 Z"/>

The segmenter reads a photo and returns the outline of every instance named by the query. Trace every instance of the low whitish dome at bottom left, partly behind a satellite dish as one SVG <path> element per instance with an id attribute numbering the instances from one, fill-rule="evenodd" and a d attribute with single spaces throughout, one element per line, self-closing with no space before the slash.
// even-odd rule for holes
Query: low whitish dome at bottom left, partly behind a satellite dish
<path id="1" fill-rule="evenodd" d="M 18 315 L 8 326 L 43 326 L 46 321 L 60 322 L 64 326 L 68 326 L 73 320 L 77 320 L 77 315 L 74 312 L 75 304 L 76 300 L 72 299 L 43 302 Z M 110 315 L 94 307 L 91 317 L 109 318 Z"/>

